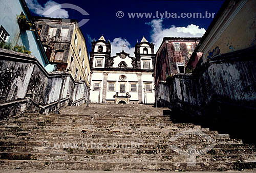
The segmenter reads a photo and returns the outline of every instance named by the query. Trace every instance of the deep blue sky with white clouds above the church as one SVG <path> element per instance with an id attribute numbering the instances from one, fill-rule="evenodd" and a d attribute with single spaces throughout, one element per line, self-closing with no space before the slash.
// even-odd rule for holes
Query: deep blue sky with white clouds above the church
<path id="1" fill-rule="evenodd" d="M 121 44 L 127 45 L 125 52 L 134 56 L 134 46 L 143 36 L 155 44 L 155 52 L 163 37 L 200 37 L 208 28 L 210 18 L 157 18 L 156 12 L 165 15 L 165 12 L 180 16 L 181 13 L 217 13 L 224 1 L 70 1 L 70 0 L 26 0 L 31 14 L 44 16 L 44 11 L 58 7 L 49 17 L 72 18 L 89 21 L 81 27 L 86 37 L 88 52 L 91 51 L 91 41 L 98 39 L 102 34 L 111 41 L 112 56 L 121 51 Z M 74 9 L 61 9 L 60 5 L 68 3 L 76 5 L 89 15 L 82 15 Z M 58 5 L 58 6 L 56 6 Z M 122 11 L 124 16 L 118 18 L 116 13 Z M 128 13 L 152 13 L 152 17 L 129 18 Z M 153 18 L 155 16 L 155 18 Z"/>

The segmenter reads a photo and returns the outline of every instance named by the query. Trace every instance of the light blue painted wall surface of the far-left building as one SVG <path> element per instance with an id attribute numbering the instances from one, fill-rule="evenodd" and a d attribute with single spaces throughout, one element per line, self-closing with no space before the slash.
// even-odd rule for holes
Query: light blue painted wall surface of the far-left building
<path id="1" fill-rule="evenodd" d="M 40 41 L 36 38 L 35 31 L 20 31 L 17 16 L 27 14 L 20 0 L 0 1 L 0 26 L 3 26 L 10 35 L 8 42 L 14 47 L 16 44 L 25 45 L 31 55 L 35 56 L 47 71 L 53 71 L 54 65 L 49 64 Z"/>

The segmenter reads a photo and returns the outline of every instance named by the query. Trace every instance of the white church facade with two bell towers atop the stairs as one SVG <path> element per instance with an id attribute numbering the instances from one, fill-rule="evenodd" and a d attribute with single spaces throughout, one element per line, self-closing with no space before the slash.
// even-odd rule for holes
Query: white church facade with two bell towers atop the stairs
<path id="1" fill-rule="evenodd" d="M 111 57 L 111 44 L 101 36 L 92 42 L 90 56 L 91 103 L 155 103 L 154 44 L 143 37 L 135 45 L 135 57 L 124 51 Z"/>

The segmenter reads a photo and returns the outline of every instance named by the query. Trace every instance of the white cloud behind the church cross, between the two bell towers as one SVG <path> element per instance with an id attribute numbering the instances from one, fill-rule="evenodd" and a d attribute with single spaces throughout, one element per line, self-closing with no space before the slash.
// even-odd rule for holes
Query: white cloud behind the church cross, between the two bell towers
<path id="1" fill-rule="evenodd" d="M 116 53 L 122 52 L 121 45 L 125 45 L 123 48 L 124 52 L 129 53 L 131 57 L 135 57 L 134 50 L 135 47 L 132 47 L 129 41 L 127 41 L 125 38 L 114 38 L 114 40 L 111 43 L 111 56 L 116 56 Z"/>

